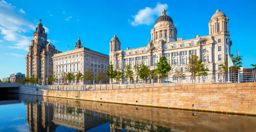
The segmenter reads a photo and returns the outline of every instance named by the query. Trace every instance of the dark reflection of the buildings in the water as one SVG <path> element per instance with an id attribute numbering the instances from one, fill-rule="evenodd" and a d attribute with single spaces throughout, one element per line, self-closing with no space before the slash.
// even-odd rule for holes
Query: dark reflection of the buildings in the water
<path id="1" fill-rule="evenodd" d="M 121 132 L 121 130 L 183 132 L 84 108 L 47 102 L 26 102 L 25 104 L 27 106 L 27 122 L 31 132 L 54 132 L 59 125 L 82 132 L 107 122 L 110 124 L 110 132 Z"/>

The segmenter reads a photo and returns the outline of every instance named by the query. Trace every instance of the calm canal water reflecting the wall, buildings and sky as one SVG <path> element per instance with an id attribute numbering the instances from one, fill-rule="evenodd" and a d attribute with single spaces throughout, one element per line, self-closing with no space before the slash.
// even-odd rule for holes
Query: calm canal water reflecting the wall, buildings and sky
<path id="1" fill-rule="evenodd" d="M 0 100 L 0 132 L 256 132 L 256 117 L 33 95 Z"/>

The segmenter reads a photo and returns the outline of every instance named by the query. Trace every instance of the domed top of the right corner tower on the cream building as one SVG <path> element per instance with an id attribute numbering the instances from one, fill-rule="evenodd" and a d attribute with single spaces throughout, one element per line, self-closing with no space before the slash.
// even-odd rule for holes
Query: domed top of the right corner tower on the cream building
<path id="1" fill-rule="evenodd" d="M 219 9 L 211 16 L 211 20 L 208 24 L 209 35 L 225 34 L 229 35 L 228 31 L 228 17 Z"/>

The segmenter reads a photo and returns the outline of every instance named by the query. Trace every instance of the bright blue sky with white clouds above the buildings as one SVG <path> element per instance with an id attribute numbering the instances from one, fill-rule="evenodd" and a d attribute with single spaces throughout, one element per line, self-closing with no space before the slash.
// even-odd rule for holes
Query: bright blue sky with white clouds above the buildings
<path id="1" fill-rule="evenodd" d="M 178 29 L 178 38 L 209 35 L 208 23 L 217 9 L 229 18 L 233 42 L 243 67 L 256 64 L 255 0 L 0 0 L 0 79 L 26 72 L 25 55 L 42 19 L 50 41 L 59 51 L 74 49 L 78 36 L 84 47 L 109 54 L 114 35 L 121 50 L 147 45 L 150 31 L 164 8 Z M 249 41 L 252 40 L 252 41 Z M 249 45 L 247 45 L 249 44 Z"/>

